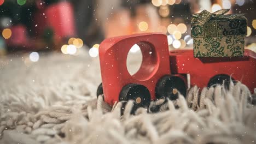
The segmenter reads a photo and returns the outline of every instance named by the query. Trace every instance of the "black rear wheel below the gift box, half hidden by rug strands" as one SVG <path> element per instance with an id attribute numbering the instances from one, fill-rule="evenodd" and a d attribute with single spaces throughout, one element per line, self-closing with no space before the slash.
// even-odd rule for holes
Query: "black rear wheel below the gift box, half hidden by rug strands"
<path id="1" fill-rule="evenodd" d="M 231 77 L 231 80 L 236 83 L 236 81 L 234 79 L 232 79 Z M 226 89 L 229 89 L 229 84 L 230 84 L 230 76 L 229 75 L 216 75 L 216 76 L 213 76 L 210 81 L 208 82 L 208 85 L 207 87 L 211 87 L 211 86 L 214 86 L 214 85 L 223 85 L 223 82 L 224 82 L 224 87 Z"/>

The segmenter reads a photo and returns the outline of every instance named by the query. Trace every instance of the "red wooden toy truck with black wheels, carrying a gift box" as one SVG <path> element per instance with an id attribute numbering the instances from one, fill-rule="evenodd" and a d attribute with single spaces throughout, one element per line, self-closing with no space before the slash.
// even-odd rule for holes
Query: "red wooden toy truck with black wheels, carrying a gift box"
<path id="1" fill-rule="evenodd" d="M 142 64 L 136 74 L 126 67 L 127 54 L 137 44 L 142 51 Z M 146 33 L 115 37 L 100 44 L 102 84 L 97 96 L 113 105 L 115 101 L 134 100 L 135 107 L 148 107 L 151 100 L 177 99 L 185 96 L 190 86 L 228 85 L 231 79 L 242 81 L 251 92 L 256 86 L 256 53 L 245 50 L 244 57 L 195 58 L 193 50 L 168 51 L 165 34 Z"/>

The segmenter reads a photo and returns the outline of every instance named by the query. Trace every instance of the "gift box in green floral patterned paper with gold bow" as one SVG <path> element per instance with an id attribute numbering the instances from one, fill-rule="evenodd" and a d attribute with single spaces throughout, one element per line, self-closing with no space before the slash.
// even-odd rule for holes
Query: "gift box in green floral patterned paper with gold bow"
<path id="1" fill-rule="evenodd" d="M 203 10 L 193 15 L 191 35 L 194 57 L 242 57 L 247 34 L 247 19 L 243 14 L 229 14 L 229 9 L 210 13 Z"/>

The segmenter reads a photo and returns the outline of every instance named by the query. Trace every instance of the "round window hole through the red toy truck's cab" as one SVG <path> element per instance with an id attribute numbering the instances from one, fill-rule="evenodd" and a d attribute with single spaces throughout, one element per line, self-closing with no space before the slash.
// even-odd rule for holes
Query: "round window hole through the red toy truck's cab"
<path id="1" fill-rule="evenodd" d="M 158 68 L 158 55 L 155 51 L 155 47 L 150 43 L 142 41 L 133 45 L 130 51 L 133 51 L 135 48 L 137 49 L 141 58 L 139 58 L 139 56 L 131 57 L 128 54 L 126 59 L 127 70 L 129 71 L 129 74 L 132 75 L 133 79 L 136 79 L 138 81 L 148 80 L 155 74 L 155 71 Z M 138 69 L 137 71 L 131 71 L 131 64 L 129 64 L 130 58 L 133 58 L 133 62 L 136 62 L 137 64 L 141 63 L 139 64 L 139 67 L 138 65 L 135 66 L 135 69 Z"/>

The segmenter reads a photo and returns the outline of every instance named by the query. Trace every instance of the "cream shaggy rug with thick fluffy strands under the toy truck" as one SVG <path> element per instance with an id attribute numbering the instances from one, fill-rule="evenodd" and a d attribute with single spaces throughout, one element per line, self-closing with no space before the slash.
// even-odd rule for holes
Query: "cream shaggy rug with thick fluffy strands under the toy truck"
<path id="1" fill-rule="evenodd" d="M 256 143 L 255 92 L 242 83 L 195 86 L 152 102 L 156 113 L 130 115 L 129 101 L 121 115 L 121 103 L 96 99 L 99 62 L 86 53 L 0 58 L 0 143 Z"/>

